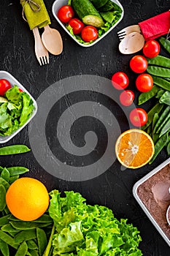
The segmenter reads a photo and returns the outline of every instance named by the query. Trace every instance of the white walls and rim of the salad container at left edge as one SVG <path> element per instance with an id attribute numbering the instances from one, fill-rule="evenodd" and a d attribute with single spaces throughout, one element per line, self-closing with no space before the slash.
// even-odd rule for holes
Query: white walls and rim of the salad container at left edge
<path id="1" fill-rule="evenodd" d="M 17 85 L 18 88 L 25 91 L 34 102 L 34 112 L 32 113 L 32 116 L 28 119 L 28 121 L 26 121 L 26 123 L 23 124 L 22 127 L 20 127 L 18 130 L 13 132 L 12 135 L 5 136 L 5 137 L 0 135 L 0 143 L 6 143 L 7 141 L 11 140 L 15 135 L 17 135 L 21 129 L 26 127 L 28 122 L 31 121 L 32 118 L 34 118 L 34 116 L 36 115 L 36 111 L 37 111 L 37 104 L 36 104 L 35 99 L 31 96 L 31 94 L 29 94 L 28 91 L 18 82 L 18 80 L 16 80 L 11 74 L 9 74 L 9 72 L 0 70 L 0 79 L 7 79 L 9 81 L 9 83 L 11 83 L 11 86 Z"/>

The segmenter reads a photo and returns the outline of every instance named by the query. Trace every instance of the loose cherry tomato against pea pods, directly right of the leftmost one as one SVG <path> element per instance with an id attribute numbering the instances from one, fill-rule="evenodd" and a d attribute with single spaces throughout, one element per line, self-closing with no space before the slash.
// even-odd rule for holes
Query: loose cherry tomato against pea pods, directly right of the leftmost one
<path id="1" fill-rule="evenodd" d="M 147 92 L 153 87 L 153 78 L 149 74 L 141 74 L 136 78 L 136 88 L 139 91 Z"/>

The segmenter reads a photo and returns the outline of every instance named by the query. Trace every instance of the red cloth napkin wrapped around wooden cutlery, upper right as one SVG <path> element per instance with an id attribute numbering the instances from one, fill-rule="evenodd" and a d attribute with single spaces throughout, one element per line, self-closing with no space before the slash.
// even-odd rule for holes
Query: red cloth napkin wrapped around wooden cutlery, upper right
<path id="1" fill-rule="evenodd" d="M 139 23 L 144 39 L 150 40 L 168 34 L 170 29 L 170 11 L 163 12 Z"/>

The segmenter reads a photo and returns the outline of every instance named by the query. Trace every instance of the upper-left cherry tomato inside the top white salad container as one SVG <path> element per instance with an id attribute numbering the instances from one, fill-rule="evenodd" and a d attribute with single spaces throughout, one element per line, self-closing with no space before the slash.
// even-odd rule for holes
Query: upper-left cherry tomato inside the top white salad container
<path id="1" fill-rule="evenodd" d="M 70 5 L 63 5 L 58 10 L 58 19 L 63 23 L 68 23 L 74 17 L 74 10 Z"/>

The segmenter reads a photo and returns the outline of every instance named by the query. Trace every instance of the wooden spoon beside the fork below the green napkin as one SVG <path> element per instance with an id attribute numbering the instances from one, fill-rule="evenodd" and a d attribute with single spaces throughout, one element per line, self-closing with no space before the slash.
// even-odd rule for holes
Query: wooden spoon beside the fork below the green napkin
<path id="1" fill-rule="evenodd" d="M 42 33 L 42 42 L 45 48 L 53 55 L 59 55 L 63 51 L 63 40 L 61 34 L 56 29 L 51 29 L 50 26 L 44 27 Z"/>

